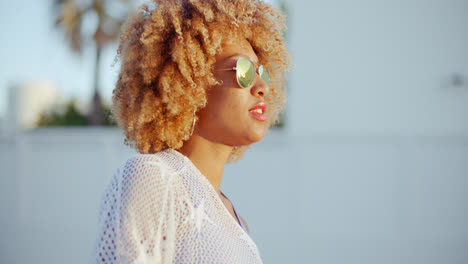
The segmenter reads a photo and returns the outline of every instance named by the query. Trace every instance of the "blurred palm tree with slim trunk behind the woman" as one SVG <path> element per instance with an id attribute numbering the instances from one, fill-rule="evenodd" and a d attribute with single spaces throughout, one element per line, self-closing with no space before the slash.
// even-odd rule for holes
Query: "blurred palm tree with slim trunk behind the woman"
<path id="1" fill-rule="evenodd" d="M 73 52 L 81 54 L 83 44 L 94 44 L 96 60 L 94 69 L 94 95 L 88 121 L 91 125 L 103 124 L 103 110 L 99 94 L 99 61 L 105 46 L 119 35 L 120 26 L 130 9 L 131 0 L 54 0 L 55 24 L 65 34 Z M 96 29 L 87 34 L 83 23 L 97 18 Z"/>

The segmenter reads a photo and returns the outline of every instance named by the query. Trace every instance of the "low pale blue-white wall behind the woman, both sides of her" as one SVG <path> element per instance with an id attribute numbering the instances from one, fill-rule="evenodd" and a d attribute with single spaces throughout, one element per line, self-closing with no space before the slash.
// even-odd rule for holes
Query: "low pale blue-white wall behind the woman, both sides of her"
<path id="1" fill-rule="evenodd" d="M 118 129 L 0 140 L 1 263 L 85 263 Z M 466 263 L 468 137 L 271 131 L 222 189 L 265 263 Z"/>

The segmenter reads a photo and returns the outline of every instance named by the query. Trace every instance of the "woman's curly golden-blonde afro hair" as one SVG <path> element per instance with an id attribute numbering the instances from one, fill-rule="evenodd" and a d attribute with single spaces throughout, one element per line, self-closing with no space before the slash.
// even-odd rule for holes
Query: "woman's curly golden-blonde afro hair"
<path id="1" fill-rule="evenodd" d="M 179 149 L 190 138 L 194 111 L 206 105 L 207 89 L 218 84 L 215 55 L 239 37 L 252 45 L 270 73 L 268 126 L 285 102 L 289 54 L 283 15 L 258 0 L 159 0 L 130 14 L 122 28 L 119 79 L 112 113 L 125 144 L 140 153 Z M 242 157 L 236 146 L 228 162 Z"/>

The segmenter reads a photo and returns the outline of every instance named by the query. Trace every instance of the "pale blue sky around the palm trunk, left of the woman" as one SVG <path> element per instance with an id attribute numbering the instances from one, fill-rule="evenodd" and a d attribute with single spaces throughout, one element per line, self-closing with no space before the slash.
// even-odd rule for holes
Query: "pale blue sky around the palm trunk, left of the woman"
<path id="1" fill-rule="evenodd" d="M 137 3 L 144 2 L 143 0 Z M 272 1 L 267 1 L 272 2 Z M 28 82 L 52 82 L 60 101 L 78 98 L 88 103 L 93 89 L 94 47 L 81 55 L 71 51 L 65 37 L 54 26 L 51 0 L 2 0 L 0 9 L 0 119 L 7 111 L 8 89 Z M 117 44 L 101 56 L 100 89 L 110 102 L 119 64 L 112 66 Z"/>

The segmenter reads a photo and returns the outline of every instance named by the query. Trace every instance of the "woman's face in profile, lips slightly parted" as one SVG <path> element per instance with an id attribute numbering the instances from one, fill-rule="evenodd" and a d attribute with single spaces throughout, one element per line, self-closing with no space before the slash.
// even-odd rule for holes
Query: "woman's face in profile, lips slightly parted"
<path id="1" fill-rule="evenodd" d="M 249 59 L 258 65 L 257 55 L 247 40 L 224 45 L 214 65 L 215 77 L 221 84 L 208 89 L 207 105 L 197 113 L 199 121 L 195 127 L 198 135 L 228 146 L 257 142 L 267 129 L 265 117 L 268 106 L 263 108 L 263 114 L 259 114 L 258 110 L 252 111 L 256 106 L 266 105 L 265 97 L 270 91 L 258 73 L 252 87 L 242 88 L 237 83 L 236 71 L 218 71 L 232 69 L 238 58 Z"/>

